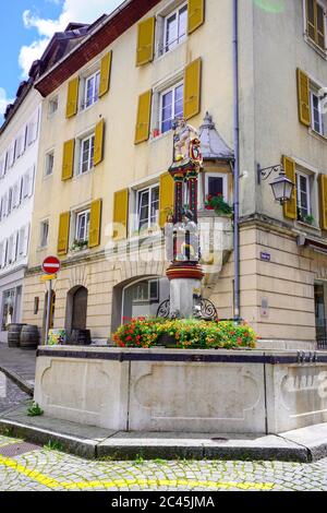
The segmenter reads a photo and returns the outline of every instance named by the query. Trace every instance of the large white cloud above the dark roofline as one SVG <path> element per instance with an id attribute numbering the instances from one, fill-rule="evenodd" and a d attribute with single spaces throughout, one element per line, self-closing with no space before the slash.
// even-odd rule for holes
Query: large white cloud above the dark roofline
<path id="1" fill-rule="evenodd" d="M 112 12 L 120 3 L 122 0 L 64 0 L 57 20 L 39 17 L 32 11 L 24 11 L 25 27 L 36 28 L 39 37 L 29 46 L 21 48 L 19 62 L 22 76 L 27 76 L 33 61 L 41 57 L 55 32 L 63 31 L 70 22 L 93 23 L 101 14 Z"/>

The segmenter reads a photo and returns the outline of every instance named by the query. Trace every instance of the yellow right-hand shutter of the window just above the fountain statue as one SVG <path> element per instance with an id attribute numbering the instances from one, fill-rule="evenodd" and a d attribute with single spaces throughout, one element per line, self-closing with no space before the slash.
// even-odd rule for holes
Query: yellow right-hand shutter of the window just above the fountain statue
<path id="1" fill-rule="evenodd" d="M 185 69 L 184 77 L 184 117 L 193 118 L 201 108 L 201 72 L 202 60 L 196 59 Z"/>

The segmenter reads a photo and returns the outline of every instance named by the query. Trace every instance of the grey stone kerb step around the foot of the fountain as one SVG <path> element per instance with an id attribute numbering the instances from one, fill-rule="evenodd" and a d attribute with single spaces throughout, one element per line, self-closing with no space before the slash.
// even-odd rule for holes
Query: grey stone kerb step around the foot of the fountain
<path id="1" fill-rule="evenodd" d="M 0 418 L 0 432 L 11 437 L 23 438 L 26 441 L 46 445 L 56 442 L 60 450 L 88 460 L 226 460 L 226 461 L 281 461 L 296 463 L 312 463 L 327 456 L 327 445 L 306 448 L 290 442 L 290 446 L 213 446 L 208 442 L 196 444 L 194 440 L 189 443 L 165 443 L 142 440 L 135 444 L 133 439 L 114 440 L 117 433 L 106 440 L 89 440 L 55 432 L 44 428 L 28 426 L 22 422 Z"/>

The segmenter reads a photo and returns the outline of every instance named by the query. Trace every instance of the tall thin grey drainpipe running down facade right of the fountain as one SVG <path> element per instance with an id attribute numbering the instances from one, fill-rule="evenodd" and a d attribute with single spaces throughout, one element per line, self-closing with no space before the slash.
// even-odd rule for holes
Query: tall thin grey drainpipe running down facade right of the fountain
<path id="1" fill-rule="evenodd" d="M 234 320 L 241 318 L 240 305 L 240 110 L 239 110 L 239 0 L 233 0 L 233 132 L 234 132 Z"/>

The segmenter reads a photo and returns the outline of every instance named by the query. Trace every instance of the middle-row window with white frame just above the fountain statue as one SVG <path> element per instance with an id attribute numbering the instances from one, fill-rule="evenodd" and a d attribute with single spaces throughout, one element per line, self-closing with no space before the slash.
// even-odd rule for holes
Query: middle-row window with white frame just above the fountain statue
<path id="1" fill-rule="evenodd" d="M 183 116 L 184 85 L 180 83 L 160 95 L 160 127 L 161 133 L 172 128 L 174 118 Z"/>

